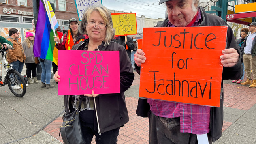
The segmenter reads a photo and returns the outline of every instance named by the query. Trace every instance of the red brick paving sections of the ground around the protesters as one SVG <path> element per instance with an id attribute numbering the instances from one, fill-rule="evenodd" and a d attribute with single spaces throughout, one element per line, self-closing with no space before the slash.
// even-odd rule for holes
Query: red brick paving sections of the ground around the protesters
<path id="1" fill-rule="evenodd" d="M 135 72 L 135 71 L 134 71 Z M 136 73 L 136 72 L 135 72 Z M 139 85 L 139 75 L 136 73 L 132 86 Z M 240 84 L 224 83 L 224 107 L 248 110 L 256 104 L 256 88 L 249 88 Z M 120 134 L 117 144 L 148 144 L 148 119 L 136 115 L 137 98 L 126 97 L 130 121 L 120 128 Z M 62 118 L 59 117 L 49 124 L 44 131 L 58 139 L 59 126 L 62 124 Z M 225 131 L 232 122 L 224 121 L 222 131 Z M 92 144 L 96 144 L 93 139 Z"/>

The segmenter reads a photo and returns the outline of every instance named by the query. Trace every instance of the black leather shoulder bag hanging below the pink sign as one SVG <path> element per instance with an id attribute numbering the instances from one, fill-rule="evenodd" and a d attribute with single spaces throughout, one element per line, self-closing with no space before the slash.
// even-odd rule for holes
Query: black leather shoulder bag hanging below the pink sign
<path id="1" fill-rule="evenodd" d="M 60 126 L 60 134 L 64 144 L 85 144 L 85 138 L 81 129 L 79 119 L 79 112 L 81 110 L 81 103 L 83 101 L 81 95 L 78 108 L 70 114 L 64 114 L 63 123 Z"/>

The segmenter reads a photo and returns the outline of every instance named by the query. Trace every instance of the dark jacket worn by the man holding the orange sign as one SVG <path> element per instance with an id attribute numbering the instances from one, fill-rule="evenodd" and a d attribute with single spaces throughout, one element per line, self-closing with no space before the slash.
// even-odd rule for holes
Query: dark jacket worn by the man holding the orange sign
<path id="1" fill-rule="evenodd" d="M 209 13 L 205 13 L 201 7 L 199 7 L 201 11 L 202 22 L 199 26 L 228 26 L 228 24 L 223 21 L 220 17 L 216 15 L 211 15 Z M 158 22 L 156 27 L 167 27 L 168 26 L 168 18 L 164 21 Z M 227 32 L 227 40 L 226 40 L 226 48 L 235 48 L 237 52 L 240 54 L 239 62 L 233 67 L 223 67 L 222 80 L 237 80 L 240 79 L 243 75 L 241 59 L 243 58 L 240 50 L 238 50 L 237 42 L 235 41 L 235 37 L 232 29 L 228 26 Z M 140 67 L 135 64 L 136 71 L 140 74 Z M 220 107 L 211 107 L 211 116 L 210 116 L 210 133 L 212 136 L 212 141 L 215 142 L 221 137 L 221 130 L 223 126 L 223 81 L 221 82 L 221 95 L 220 95 Z M 149 111 L 149 104 L 145 104 L 144 99 L 139 100 L 136 114 L 138 116 L 145 117 Z"/>

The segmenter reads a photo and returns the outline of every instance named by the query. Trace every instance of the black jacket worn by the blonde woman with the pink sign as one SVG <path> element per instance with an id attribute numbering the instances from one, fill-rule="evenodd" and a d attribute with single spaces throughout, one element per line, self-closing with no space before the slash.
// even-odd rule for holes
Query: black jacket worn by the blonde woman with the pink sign
<path id="1" fill-rule="evenodd" d="M 73 45 L 71 50 L 84 50 L 89 39 Z M 129 121 L 128 111 L 126 108 L 124 92 L 130 88 L 134 80 L 134 73 L 132 64 L 128 58 L 127 52 L 122 45 L 111 41 L 110 45 L 106 45 L 102 42 L 102 45 L 98 46 L 100 51 L 119 51 L 120 60 L 120 93 L 115 94 L 100 94 L 95 97 L 96 105 L 94 105 L 94 130 L 97 129 L 97 119 L 95 106 L 97 108 L 98 120 L 100 125 L 100 132 L 104 133 L 112 129 L 123 126 Z M 74 109 L 71 105 L 71 96 L 64 96 L 65 112 L 69 114 Z"/>

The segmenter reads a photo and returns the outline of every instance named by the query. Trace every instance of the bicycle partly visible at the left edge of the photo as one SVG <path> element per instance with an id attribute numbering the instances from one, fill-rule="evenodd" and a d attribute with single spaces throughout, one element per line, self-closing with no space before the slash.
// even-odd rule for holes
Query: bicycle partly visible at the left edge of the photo
<path id="1" fill-rule="evenodd" d="M 14 48 L 11 48 L 14 49 Z M 0 47 L 0 53 L 3 57 L 2 63 L 1 63 L 1 73 L 2 76 L 0 77 L 0 85 L 5 86 L 8 84 L 9 89 L 11 92 L 17 96 L 17 97 L 23 97 L 26 94 L 26 82 L 21 76 L 21 74 L 12 68 L 12 64 L 8 64 L 6 60 L 6 51 L 9 49 L 1 49 Z M 6 71 L 6 75 L 5 71 Z M 2 81 L 4 80 L 4 81 Z"/>

